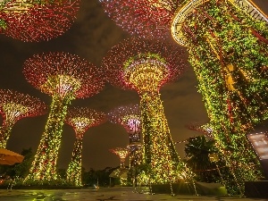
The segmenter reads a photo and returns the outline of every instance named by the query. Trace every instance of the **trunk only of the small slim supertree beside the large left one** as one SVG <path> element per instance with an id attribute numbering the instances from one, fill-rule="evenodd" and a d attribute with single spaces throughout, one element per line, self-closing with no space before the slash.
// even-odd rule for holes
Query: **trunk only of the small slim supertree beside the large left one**
<path id="1" fill-rule="evenodd" d="M 67 169 L 67 180 L 75 186 L 82 186 L 82 140 L 83 135 L 77 137 L 74 142 L 74 148 L 71 156 L 71 163 Z"/>

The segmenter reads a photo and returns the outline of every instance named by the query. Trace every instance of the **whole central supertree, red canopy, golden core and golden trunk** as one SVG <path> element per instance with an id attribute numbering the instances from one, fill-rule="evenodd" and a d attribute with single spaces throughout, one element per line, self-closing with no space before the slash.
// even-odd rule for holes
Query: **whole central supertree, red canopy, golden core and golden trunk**
<path id="1" fill-rule="evenodd" d="M 103 63 L 110 83 L 138 91 L 143 161 L 152 166 L 152 182 L 169 182 L 179 163 L 159 89 L 166 82 L 176 80 L 184 70 L 182 54 L 178 46 L 132 38 L 114 46 Z"/>

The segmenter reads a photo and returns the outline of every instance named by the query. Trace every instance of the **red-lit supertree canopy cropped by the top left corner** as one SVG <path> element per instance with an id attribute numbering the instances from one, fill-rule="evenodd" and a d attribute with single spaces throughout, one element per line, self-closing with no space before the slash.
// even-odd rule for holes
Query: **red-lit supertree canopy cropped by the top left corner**
<path id="1" fill-rule="evenodd" d="M 0 33 L 27 42 L 56 38 L 71 27 L 80 0 L 0 0 Z"/>

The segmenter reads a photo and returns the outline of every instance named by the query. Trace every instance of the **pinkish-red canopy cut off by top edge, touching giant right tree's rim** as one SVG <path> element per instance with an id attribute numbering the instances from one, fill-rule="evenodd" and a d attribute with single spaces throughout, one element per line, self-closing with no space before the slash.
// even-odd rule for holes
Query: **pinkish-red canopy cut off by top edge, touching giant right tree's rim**
<path id="1" fill-rule="evenodd" d="M 167 38 L 173 14 L 181 0 L 100 0 L 109 15 L 132 35 L 142 38 Z"/>

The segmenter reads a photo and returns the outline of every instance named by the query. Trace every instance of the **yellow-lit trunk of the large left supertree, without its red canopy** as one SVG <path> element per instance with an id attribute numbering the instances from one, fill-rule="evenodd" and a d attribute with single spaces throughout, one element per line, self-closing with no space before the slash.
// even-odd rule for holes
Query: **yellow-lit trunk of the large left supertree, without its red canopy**
<path id="1" fill-rule="evenodd" d="M 50 113 L 28 179 L 57 180 L 56 163 L 68 105 L 73 96 L 53 96 Z M 46 165 L 45 165 L 46 164 Z"/>

